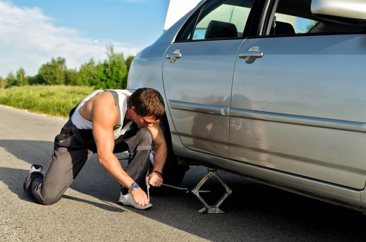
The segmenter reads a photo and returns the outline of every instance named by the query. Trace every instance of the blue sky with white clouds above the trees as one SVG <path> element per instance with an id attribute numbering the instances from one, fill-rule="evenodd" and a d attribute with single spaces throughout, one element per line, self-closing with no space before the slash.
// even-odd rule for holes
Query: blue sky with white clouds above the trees
<path id="1" fill-rule="evenodd" d="M 51 57 L 68 68 L 105 59 L 105 46 L 135 55 L 164 30 L 168 0 L 0 0 L 0 76 L 35 75 Z"/>

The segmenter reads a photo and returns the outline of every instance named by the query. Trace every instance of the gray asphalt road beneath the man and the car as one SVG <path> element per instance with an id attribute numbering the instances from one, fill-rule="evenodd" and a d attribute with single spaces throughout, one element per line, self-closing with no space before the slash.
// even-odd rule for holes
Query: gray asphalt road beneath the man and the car
<path id="1" fill-rule="evenodd" d="M 30 164 L 48 166 L 65 120 L 0 106 L 0 241 L 366 241 L 366 216 L 220 172 L 233 190 L 226 214 L 200 214 L 200 201 L 173 192 L 152 210 L 116 202 L 119 185 L 93 156 L 61 201 L 33 203 L 23 192 Z M 121 161 L 125 166 L 125 161 Z M 191 167 L 183 187 L 204 175 Z M 214 201 L 222 190 L 211 179 Z"/>

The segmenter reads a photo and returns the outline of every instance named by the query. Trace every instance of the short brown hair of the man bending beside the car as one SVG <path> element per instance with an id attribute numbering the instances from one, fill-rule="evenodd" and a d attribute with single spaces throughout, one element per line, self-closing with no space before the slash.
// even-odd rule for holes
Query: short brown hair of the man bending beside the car
<path id="1" fill-rule="evenodd" d="M 137 115 L 142 117 L 154 116 L 156 120 L 165 113 L 164 100 L 159 91 L 155 89 L 137 89 L 128 97 L 128 107 L 134 106 Z"/>

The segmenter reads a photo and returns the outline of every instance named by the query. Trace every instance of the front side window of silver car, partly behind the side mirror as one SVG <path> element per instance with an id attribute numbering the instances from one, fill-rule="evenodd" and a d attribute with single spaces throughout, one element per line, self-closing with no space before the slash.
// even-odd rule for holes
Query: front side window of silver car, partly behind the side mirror
<path id="1" fill-rule="evenodd" d="M 266 34 L 270 36 L 300 34 L 334 34 L 364 32 L 365 28 L 316 19 L 311 14 L 311 0 L 278 0 L 275 15 L 268 18 Z"/>

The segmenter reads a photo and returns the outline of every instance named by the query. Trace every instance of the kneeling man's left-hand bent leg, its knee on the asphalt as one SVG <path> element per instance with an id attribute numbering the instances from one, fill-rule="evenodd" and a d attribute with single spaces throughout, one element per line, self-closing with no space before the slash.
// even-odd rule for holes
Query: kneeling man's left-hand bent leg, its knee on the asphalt
<path id="1" fill-rule="evenodd" d="M 58 147 L 46 176 L 39 172 L 30 174 L 24 182 L 24 189 L 37 203 L 51 205 L 58 202 L 92 154 L 88 149 Z"/>

